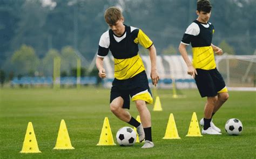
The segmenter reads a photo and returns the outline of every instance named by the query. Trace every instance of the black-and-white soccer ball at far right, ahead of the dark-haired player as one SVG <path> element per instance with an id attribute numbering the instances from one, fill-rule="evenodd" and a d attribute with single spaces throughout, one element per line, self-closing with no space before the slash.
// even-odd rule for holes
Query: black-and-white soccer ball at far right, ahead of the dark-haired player
<path id="1" fill-rule="evenodd" d="M 242 122 L 238 119 L 232 118 L 227 120 L 225 130 L 228 135 L 239 135 L 242 132 Z"/>

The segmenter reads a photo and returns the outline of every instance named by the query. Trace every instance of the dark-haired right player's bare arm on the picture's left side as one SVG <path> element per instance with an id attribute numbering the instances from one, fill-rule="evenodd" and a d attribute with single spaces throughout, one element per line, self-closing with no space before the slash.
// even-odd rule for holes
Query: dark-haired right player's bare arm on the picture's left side
<path id="1" fill-rule="evenodd" d="M 187 64 L 187 74 L 193 76 L 193 78 L 197 75 L 197 70 L 193 67 L 190 59 L 187 56 L 187 50 L 186 50 L 186 45 L 182 44 L 180 42 L 179 45 L 179 52 L 181 56 L 183 57 L 185 63 Z"/>

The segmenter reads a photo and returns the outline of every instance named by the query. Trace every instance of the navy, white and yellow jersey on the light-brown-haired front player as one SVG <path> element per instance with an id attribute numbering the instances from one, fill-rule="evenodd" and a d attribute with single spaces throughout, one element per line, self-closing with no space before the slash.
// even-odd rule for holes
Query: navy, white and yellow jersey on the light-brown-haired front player
<path id="1" fill-rule="evenodd" d="M 119 80 L 129 79 L 145 70 L 138 54 L 138 44 L 150 48 L 153 42 L 136 27 L 125 25 L 125 32 L 120 37 L 110 29 L 100 37 L 98 56 L 104 57 L 110 50 L 114 57 L 114 77 Z"/>

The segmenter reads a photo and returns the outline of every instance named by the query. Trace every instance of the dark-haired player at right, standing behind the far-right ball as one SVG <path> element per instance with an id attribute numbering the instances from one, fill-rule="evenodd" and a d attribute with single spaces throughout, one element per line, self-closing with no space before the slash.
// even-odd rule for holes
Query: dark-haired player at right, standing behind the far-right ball
<path id="1" fill-rule="evenodd" d="M 211 3 L 206 0 L 197 2 L 197 20 L 187 27 L 179 45 L 179 52 L 187 64 L 187 74 L 194 77 L 201 97 L 207 97 L 202 134 L 221 134 L 212 122 L 212 116 L 228 99 L 228 91 L 223 77 L 216 68 L 214 52 L 222 55 L 223 50 L 212 44 L 214 27 L 208 20 L 211 17 Z M 191 43 L 193 62 L 188 59 L 186 46 Z"/>

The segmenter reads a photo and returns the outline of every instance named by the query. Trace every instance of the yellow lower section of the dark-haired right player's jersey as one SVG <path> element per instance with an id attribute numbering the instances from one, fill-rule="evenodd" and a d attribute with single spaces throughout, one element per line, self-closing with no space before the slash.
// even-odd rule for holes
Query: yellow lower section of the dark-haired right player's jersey
<path id="1" fill-rule="evenodd" d="M 192 47 L 192 52 L 194 68 L 210 70 L 216 67 L 212 46 Z"/>

